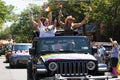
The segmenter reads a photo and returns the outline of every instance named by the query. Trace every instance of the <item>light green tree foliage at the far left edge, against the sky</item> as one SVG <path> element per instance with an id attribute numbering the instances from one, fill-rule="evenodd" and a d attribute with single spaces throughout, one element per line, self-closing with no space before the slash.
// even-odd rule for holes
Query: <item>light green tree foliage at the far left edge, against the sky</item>
<path id="1" fill-rule="evenodd" d="M 7 38 L 10 34 L 10 30 L 8 26 L 4 31 L 2 31 L 3 24 L 5 22 L 15 21 L 16 14 L 13 12 L 14 6 L 12 5 L 5 5 L 5 2 L 0 0 L 0 38 Z"/>

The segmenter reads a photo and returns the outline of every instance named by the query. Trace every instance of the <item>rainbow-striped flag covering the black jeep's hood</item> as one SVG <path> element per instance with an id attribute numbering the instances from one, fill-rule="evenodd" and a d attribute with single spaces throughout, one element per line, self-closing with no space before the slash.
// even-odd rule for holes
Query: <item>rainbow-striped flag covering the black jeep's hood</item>
<path id="1" fill-rule="evenodd" d="M 78 54 L 78 53 L 70 53 L 70 54 L 46 54 L 41 56 L 44 62 L 52 61 L 52 60 L 97 60 L 91 54 Z"/>

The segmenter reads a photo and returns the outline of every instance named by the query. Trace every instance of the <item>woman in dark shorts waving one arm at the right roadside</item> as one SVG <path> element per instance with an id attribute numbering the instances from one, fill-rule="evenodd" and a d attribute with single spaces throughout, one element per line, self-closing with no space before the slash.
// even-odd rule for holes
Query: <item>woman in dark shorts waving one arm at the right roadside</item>
<path id="1" fill-rule="evenodd" d="M 118 43 L 117 41 L 113 41 L 112 38 L 109 38 L 112 42 L 112 51 L 111 51 L 111 66 L 112 66 L 112 74 L 113 78 L 118 77 L 117 73 L 117 64 L 118 64 Z"/>

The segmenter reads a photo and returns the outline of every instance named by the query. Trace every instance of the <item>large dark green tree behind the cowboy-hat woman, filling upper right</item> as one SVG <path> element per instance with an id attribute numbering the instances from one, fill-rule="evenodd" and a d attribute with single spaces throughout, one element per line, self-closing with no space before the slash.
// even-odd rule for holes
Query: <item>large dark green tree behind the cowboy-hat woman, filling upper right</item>
<path id="1" fill-rule="evenodd" d="M 90 3 L 88 2 L 90 1 Z M 76 18 L 76 22 L 79 22 L 83 19 L 87 13 L 87 9 L 91 6 L 92 11 L 90 12 L 89 22 L 97 23 L 97 33 L 103 38 L 99 41 L 108 41 L 109 37 L 119 40 L 120 34 L 120 1 L 118 0 L 84 0 L 81 2 L 79 0 L 49 0 L 49 5 L 52 8 L 55 16 L 58 16 L 60 8 L 57 8 L 56 5 L 61 3 L 63 5 L 63 20 L 67 15 L 73 15 Z M 100 34 L 100 24 L 104 24 L 104 32 Z M 117 37 L 116 37 L 117 36 Z"/>

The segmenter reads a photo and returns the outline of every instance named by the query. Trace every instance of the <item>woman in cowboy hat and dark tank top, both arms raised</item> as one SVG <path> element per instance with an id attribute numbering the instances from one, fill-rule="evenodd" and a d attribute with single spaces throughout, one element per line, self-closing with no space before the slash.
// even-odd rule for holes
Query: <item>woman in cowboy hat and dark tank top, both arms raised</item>
<path id="1" fill-rule="evenodd" d="M 58 23 L 60 24 L 60 26 L 63 27 L 64 35 L 73 35 L 74 29 L 83 26 L 83 24 L 85 24 L 86 20 L 89 18 L 89 14 L 88 14 L 80 23 L 74 23 L 75 18 L 72 17 L 71 15 L 67 16 L 65 22 L 61 21 L 61 16 L 62 16 L 62 10 L 59 11 Z"/>

